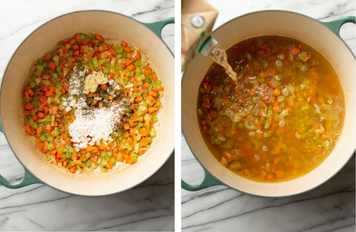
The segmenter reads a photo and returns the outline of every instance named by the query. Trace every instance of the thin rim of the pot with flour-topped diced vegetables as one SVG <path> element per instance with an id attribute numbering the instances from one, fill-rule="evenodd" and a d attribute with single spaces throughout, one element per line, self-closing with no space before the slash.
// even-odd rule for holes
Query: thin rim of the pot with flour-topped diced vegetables
<path id="1" fill-rule="evenodd" d="M 0 87 L 0 96 L 1 96 L 1 91 L 2 91 L 2 83 L 4 82 L 4 78 L 5 78 L 5 75 L 6 75 L 7 68 L 9 67 L 9 65 L 10 65 L 10 63 L 11 63 L 11 60 L 12 60 L 12 58 L 14 58 L 16 52 L 19 50 L 19 48 L 22 46 L 22 44 L 28 39 L 28 37 L 30 37 L 33 33 L 35 33 L 35 32 L 36 32 L 37 30 L 39 30 L 41 27 L 45 26 L 46 24 L 48 24 L 48 23 L 50 23 L 50 22 L 52 22 L 52 21 L 54 21 L 54 20 L 56 20 L 56 19 L 59 19 L 59 18 L 61 18 L 61 17 L 67 16 L 67 15 L 72 15 L 72 14 L 77 14 L 77 13 L 84 13 L 84 12 L 104 12 L 104 13 L 115 14 L 115 15 L 119 15 L 119 16 L 126 17 L 126 18 L 129 19 L 129 20 L 132 20 L 132 21 L 134 21 L 134 22 L 136 22 L 136 23 L 141 24 L 142 26 L 146 27 L 146 29 L 150 30 L 150 31 L 162 42 L 162 44 L 168 49 L 169 53 L 171 53 L 171 55 L 172 55 L 172 57 L 173 57 L 173 59 L 174 59 L 174 54 L 173 54 L 173 52 L 171 51 L 171 49 L 169 49 L 169 47 L 168 47 L 167 44 L 163 41 L 163 39 L 162 39 L 160 36 L 158 36 L 150 27 L 148 27 L 148 26 L 147 26 L 145 23 L 143 23 L 143 22 L 140 22 L 140 21 L 138 21 L 138 20 L 136 20 L 136 19 L 133 19 L 133 18 L 127 16 L 127 15 L 120 14 L 120 13 L 114 12 L 114 11 L 108 11 L 108 10 L 79 10 L 79 11 L 72 11 L 72 12 L 69 12 L 69 13 L 66 13 L 66 14 L 63 14 L 63 15 L 59 15 L 59 16 L 57 16 L 57 17 L 54 17 L 53 19 L 51 19 L 51 20 L 49 20 L 49 21 L 43 23 L 41 26 L 37 27 L 37 28 L 36 28 L 35 30 L 33 30 L 29 35 L 27 35 L 26 38 L 23 39 L 23 41 L 19 44 L 19 46 L 17 46 L 15 52 L 12 54 L 11 58 L 10 58 L 9 61 L 7 62 L 6 67 L 5 67 L 5 69 L 4 69 L 5 72 L 4 72 L 4 74 L 2 75 L 2 79 L 1 79 L 1 81 L 0 81 L 0 85 L 1 85 L 1 87 Z M 145 180 L 147 180 L 148 178 L 150 178 L 150 177 L 151 177 L 153 174 L 155 174 L 159 169 L 161 169 L 161 167 L 167 162 L 167 160 L 169 159 L 169 157 L 171 157 L 171 155 L 172 155 L 173 152 L 174 152 L 174 147 L 173 147 L 173 149 L 172 149 L 171 151 L 169 151 L 169 155 L 168 155 L 167 159 L 164 160 L 164 162 L 162 163 L 162 165 L 161 165 L 155 172 L 151 173 L 150 175 L 148 175 L 146 178 L 142 179 L 142 180 L 139 181 L 138 183 L 135 183 L 135 184 L 132 185 L 130 188 L 127 188 L 127 189 L 124 189 L 124 190 L 120 190 L 120 191 L 117 191 L 117 192 L 115 192 L 115 193 L 108 193 L 108 194 L 101 194 L 101 195 L 85 195 L 85 194 L 70 193 L 70 192 L 68 192 L 68 191 L 64 191 L 64 190 L 62 190 L 62 189 L 56 188 L 56 187 L 54 187 L 54 186 L 52 186 L 52 185 L 49 185 L 48 183 L 46 183 L 45 181 L 43 181 L 41 178 L 39 178 L 37 175 L 33 174 L 33 173 L 31 172 L 31 170 L 28 169 L 28 168 L 26 167 L 26 165 L 22 163 L 22 161 L 19 159 L 19 157 L 17 156 L 17 154 L 14 152 L 14 149 L 12 148 L 12 145 L 10 144 L 9 140 L 7 139 L 6 132 L 5 132 L 5 129 L 4 129 L 4 122 L 3 122 L 2 119 L 1 119 L 1 107 L 0 107 L 0 123 L 1 123 L 2 130 L 3 130 L 2 133 L 4 134 L 4 137 L 5 137 L 5 139 L 6 139 L 7 144 L 9 145 L 9 147 L 10 147 L 10 149 L 11 149 L 11 152 L 15 155 L 16 159 L 20 162 L 21 166 L 22 166 L 28 173 L 30 173 L 30 174 L 31 174 L 32 176 L 34 176 L 37 180 L 39 180 L 39 181 L 41 182 L 41 184 L 45 184 L 45 185 L 51 187 L 52 189 L 56 189 L 56 190 L 61 191 L 61 192 L 63 192 L 63 193 L 67 193 L 67 194 L 71 194 L 71 195 L 75 195 L 75 196 L 87 196 L 87 197 L 109 196 L 109 195 L 114 195 L 114 194 L 117 194 L 117 193 L 121 193 L 121 192 L 127 191 L 127 190 L 129 190 L 129 189 L 133 189 L 133 188 L 135 188 L 137 185 L 141 184 L 143 181 L 145 181 Z"/>

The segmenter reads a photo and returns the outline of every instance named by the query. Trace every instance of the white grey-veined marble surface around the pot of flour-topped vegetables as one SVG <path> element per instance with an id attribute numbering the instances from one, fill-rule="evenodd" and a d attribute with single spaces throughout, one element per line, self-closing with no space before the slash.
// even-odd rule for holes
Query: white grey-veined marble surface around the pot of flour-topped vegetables
<path id="1" fill-rule="evenodd" d="M 174 16 L 173 0 L 0 1 L 0 77 L 20 43 L 43 23 L 72 11 L 120 12 L 141 22 Z M 174 51 L 174 26 L 162 32 Z M 23 168 L 0 135 L 0 173 L 20 180 Z M 173 231 L 174 154 L 144 183 L 124 193 L 80 197 L 43 184 L 21 189 L 0 186 L 0 231 Z"/>

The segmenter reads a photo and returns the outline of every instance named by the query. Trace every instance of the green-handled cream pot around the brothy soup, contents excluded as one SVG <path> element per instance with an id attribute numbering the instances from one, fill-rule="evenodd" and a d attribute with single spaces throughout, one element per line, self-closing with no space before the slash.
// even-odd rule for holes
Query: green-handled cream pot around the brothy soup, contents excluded
<path id="1" fill-rule="evenodd" d="M 182 131 L 192 153 L 204 167 L 205 176 L 197 185 L 182 181 L 183 189 L 194 191 L 224 184 L 252 195 L 290 196 L 315 188 L 344 167 L 355 152 L 355 56 L 339 37 L 339 29 L 345 22 L 355 23 L 355 17 L 319 22 L 294 12 L 258 11 L 237 17 L 212 33 L 224 49 L 251 37 L 267 35 L 298 39 L 315 48 L 330 62 L 339 77 L 345 95 L 344 127 L 329 157 L 312 172 L 297 179 L 260 183 L 231 172 L 211 154 L 200 133 L 197 117 L 199 85 L 212 60 L 199 54 L 188 65 L 182 80 Z"/>

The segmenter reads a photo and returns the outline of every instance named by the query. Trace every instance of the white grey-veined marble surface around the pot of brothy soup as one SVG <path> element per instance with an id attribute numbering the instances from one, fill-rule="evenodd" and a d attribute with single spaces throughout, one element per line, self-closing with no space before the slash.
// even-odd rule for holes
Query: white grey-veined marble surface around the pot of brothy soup
<path id="1" fill-rule="evenodd" d="M 208 0 L 219 10 L 214 28 L 258 10 L 289 10 L 321 21 L 355 16 L 354 0 Z M 355 25 L 341 28 L 355 54 Z M 198 184 L 203 169 L 182 136 L 182 179 Z M 182 231 L 355 231 L 355 155 L 331 180 L 308 193 L 274 199 L 250 196 L 226 186 L 182 189 Z"/>

